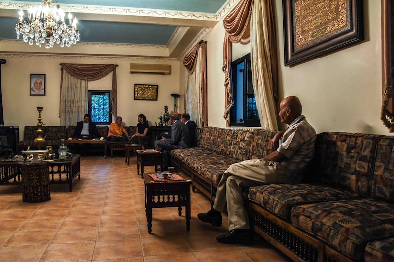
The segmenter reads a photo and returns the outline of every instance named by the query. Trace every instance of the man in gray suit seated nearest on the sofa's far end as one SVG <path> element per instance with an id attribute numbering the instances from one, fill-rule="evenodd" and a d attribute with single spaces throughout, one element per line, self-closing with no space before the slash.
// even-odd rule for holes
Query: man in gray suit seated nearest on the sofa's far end
<path id="1" fill-rule="evenodd" d="M 179 120 L 179 113 L 174 111 L 170 115 L 171 121 L 171 138 L 162 138 L 155 141 L 155 149 L 164 152 L 163 170 L 168 168 L 170 164 L 169 152 L 173 149 L 189 148 L 190 135 L 188 127 Z"/>

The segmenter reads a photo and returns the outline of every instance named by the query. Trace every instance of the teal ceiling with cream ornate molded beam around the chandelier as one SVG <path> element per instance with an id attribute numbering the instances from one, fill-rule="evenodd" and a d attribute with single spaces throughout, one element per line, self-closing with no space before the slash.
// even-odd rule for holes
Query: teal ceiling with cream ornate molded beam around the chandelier
<path id="1" fill-rule="evenodd" d="M 237 0 L 58 0 L 66 12 L 78 19 L 81 42 L 167 46 L 178 40 L 185 48 L 204 28 L 213 27 L 221 10 Z M 53 0 L 53 3 L 55 1 Z M 0 39 L 16 38 L 18 11 L 25 17 L 30 4 L 41 0 L 0 0 Z M 53 4 L 52 3 L 52 4 Z M 219 15 L 218 15 L 219 14 Z M 187 28 L 187 30 L 185 30 Z M 188 37 L 187 39 L 185 37 Z M 179 52 L 178 52 L 179 53 Z"/>

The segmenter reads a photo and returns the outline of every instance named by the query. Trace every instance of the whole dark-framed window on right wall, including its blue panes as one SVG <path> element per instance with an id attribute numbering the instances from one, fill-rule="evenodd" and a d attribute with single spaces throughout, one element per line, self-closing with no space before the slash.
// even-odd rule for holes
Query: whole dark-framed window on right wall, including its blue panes
<path id="1" fill-rule="evenodd" d="M 231 63 L 231 86 L 234 105 L 231 126 L 260 126 L 252 83 L 250 53 Z"/>

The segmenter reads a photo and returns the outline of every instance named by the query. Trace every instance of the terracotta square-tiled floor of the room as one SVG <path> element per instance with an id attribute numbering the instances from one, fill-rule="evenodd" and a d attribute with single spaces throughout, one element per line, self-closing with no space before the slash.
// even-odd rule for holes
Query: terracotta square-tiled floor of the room
<path id="1" fill-rule="evenodd" d="M 145 172 L 154 172 L 146 167 Z M 202 194 L 192 192 L 192 219 L 177 208 L 153 209 L 147 232 L 143 181 L 121 156 L 82 157 L 81 180 L 51 185 L 51 200 L 22 202 L 19 186 L 0 187 L 0 262 L 47 261 L 289 261 L 262 239 L 252 246 L 226 245 L 215 237 L 227 233 L 200 223 L 209 210 Z"/>

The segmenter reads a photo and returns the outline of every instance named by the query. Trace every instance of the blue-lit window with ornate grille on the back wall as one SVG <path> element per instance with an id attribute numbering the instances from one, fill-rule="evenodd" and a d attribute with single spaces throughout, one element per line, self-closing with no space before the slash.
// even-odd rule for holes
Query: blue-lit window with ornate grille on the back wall
<path id="1" fill-rule="evenodd" d="M 92 116 L 91 121 L 98 125 L 111 124 L 111 92 L 88 91 L 88 100 L 88 110 Z"/>

